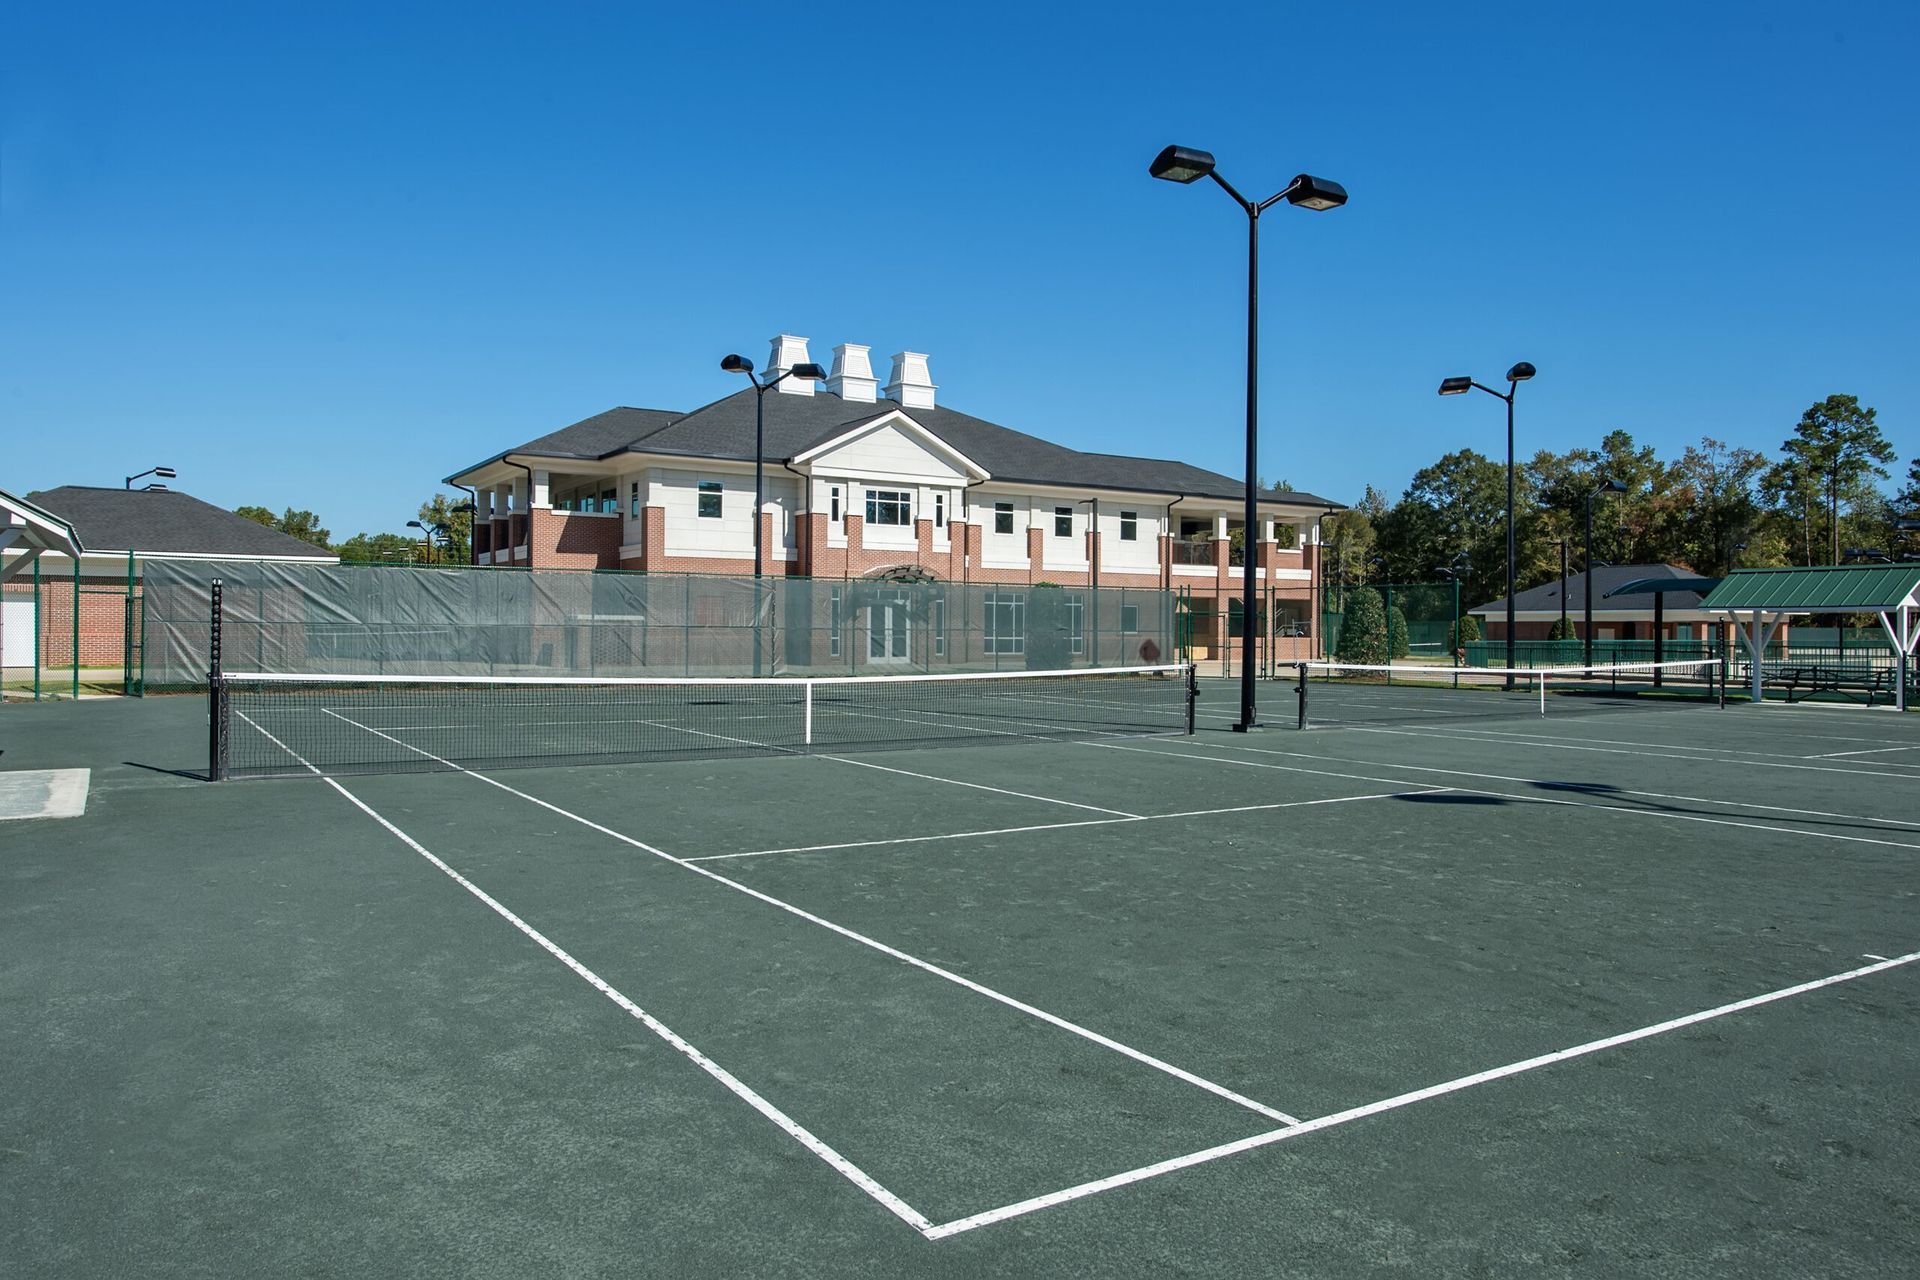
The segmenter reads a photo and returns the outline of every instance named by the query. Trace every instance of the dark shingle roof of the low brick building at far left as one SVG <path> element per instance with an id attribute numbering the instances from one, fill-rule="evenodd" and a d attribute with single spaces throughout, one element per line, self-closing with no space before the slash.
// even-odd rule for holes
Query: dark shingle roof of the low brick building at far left
<path id="1" fill-rule="evenodd" d="M 324 557 L 324 547 L 253 524 L 169 489 L 96 489 L 69 484 L 29 493 L 35 507 L 73 526 L 86 551 L 167 551 L 207 557 Z"/>

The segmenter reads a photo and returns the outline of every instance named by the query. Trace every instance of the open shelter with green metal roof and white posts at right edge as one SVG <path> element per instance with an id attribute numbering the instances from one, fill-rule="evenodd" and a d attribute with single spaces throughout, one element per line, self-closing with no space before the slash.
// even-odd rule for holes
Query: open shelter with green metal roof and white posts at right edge
<path id="1" fill-rule="evenodd" d="M 1726 614 L 1753 658 L 1753 700 L 1761 700 L 1761 658 L 1793 614 L 1878 614 L 1899 654 L 1895 706 L 1907 710 L 1907 664 L 1920 641 L 1920 564 L 1837 564 L 1832 568 L 1741 568 L 1699 603 Z"/>

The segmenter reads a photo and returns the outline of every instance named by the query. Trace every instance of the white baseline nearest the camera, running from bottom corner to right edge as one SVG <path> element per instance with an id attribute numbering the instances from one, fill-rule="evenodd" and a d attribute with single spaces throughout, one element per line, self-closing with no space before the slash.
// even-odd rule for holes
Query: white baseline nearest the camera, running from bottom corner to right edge
<path id="1" fill-rule="evenodd" d="M 1551 1067 L 1574 1057 L 1586 1057 L 1588 1054 L 1599 1054 L 1601 1050 L 1619 1048 L 1622 1044 L 1632 1044 L 1636 1040 L 1651 1040 L 1653 1036 L 1663 1036 L 1668 1031 L 1680 1031 L 1684 1027 L 1693 1027 L 1697 1023 L 1707 1023 L 1716 1017 L 1728 1017 L 1732 1013 L 1743 1013 L 1745 1009 L 1755 1009 L 1764 1004 L 1774 1004 L 1776 1000 L 1789 1000 L 1793 996 L 1805 996 L 1807 992 L 1820 990 L 1822 986 L 1836 986 L 1839 983 L 1853 983 L 1857 979 L 1868 977 L 1872 973 L 1884 973 L 1885 969 L 1897 969 L 1899 965 L 1908 965 L 1920 960 L 1920 952 L 1908 952 L 1905 956 L 1895 956 L 1893 960 L 1882 960 L 1880 963 L 1864 965 L 1860 969 L 1847 969 L 1845 973 L 1834 973 L 1824 979 L 1814 979 L 1811 983 L 1801 983 L 1797 986 L 1782 986 L 1780 990 L 1770 990 L 1761 996 L 1749 996 L 1745 1000 L 1736 1000 L 1732 1004 L 1722 1004 L 1713 1009 L 1701 1009 L 1699 1013 L 1688 1013 L 1686 1017 L 1674 1017 L 1665 1023 L 1655 1023 L 1651 1027 L 1640 1027 L 1636 1031 L 1624 1031 L 1617 1036 L 1607 1036 L 1603 1040 L 1588 1040 L 1586 1044 L 1574 1044 L 1572 1048 L 1555 1050 L 1551 1054 L 1540 1054 L 1538 1057 L 1528 1057 L 1524 1061 L 1507 1063 L 1505 1067 L 1494 1067 L 1490 1071 L 1475 1071 L 1473 1075 L 1455 1077 L 1442 1084 L 1428 1084 L 1427 1088 L 1417 1088 L 1407 1094 L 1396 1094 L 1392 1098 L 1382 1098 L 1380 1102 L 1369 1102 L 1361 1107 L 1348 1107 L 1346 1111 L 1334 1111 L 1332 1115 L 1323 1115 L 1315 1121 L 1304 1121 L 1300 1125 L 1288 1125 L 1286 1128 L 1275 1128 L 1263 1134 L 1254 1134 L 1252 1138 L 1240 1138 L 1238 1142 L 1225 1142 L 1215 1148 L 1206 1148 L 1204 1151 L 1192 1151 L 1188 1155 L 1177 1155 L 1173 1159 L 1164 1159 L 1156 1165 L 1144 1165 L 1140 1169 L 1129 1169 L 1127 1173 L 1117 1173 L 1108 1178 L 1096 1178 L 1092 1182 L 1081 1182 L 1079 1186 L 1068 1186 L 1058 1192 L 1048 1192 L 1046 1196 L 1035 1196 L 1033 1199 L 1021 1199 L 1012 1205 L 1000 1205 L 998 1209 L 987 1209 L 985 1213 L 975 1213 L 964 1219 L 954 1219 L 952 1222 L 941 1222 L 939 1226 L 929 1226 L 922 1232 L 927 1240 L 945 1240 L 948 1236 L 958 1236 L 960 1232 L 970 1232 L 979 1226 L 991 1226 L 995 1222 L 1006 1222 L 1008 1219 L 1018 1219 L 1027 1213 L 1039 1213 L 1041 1209 L 1052 1209 L 1073 1199 L 1085 1199 L 1087 1196 L 1096 1196 L 1100 1192 L 1110 1192 L 1119 1186 L 1131 1186 L 1135 1182 L 1144 1182 L 1148 1178 L 1158 1178 L 1179 1169 L 1192 1169 L 1194 1165 L 1206 1165 L 1210 1161 L 1225 1159 L 1229 1155 L 1240 1155 L 1242 1151 L 1254 1151 L 1258 1148 L 1273 1146 L 1275 1142 L 1286 1142 L 1288 1138 L 1300 1138 L 1304 1134 L 1321 1132 L 1325 1128 L 1334 1128 L 1338 1125 L 1350 1125 L 1354 1121 L 1363 1121 L 1371 1115 L 1380 1115 L 1384 1111 L 1396 1111 L 1400 1107 L 1409 1107 L 1417 1102 L 1428 1102 L 1432 1098 L 1444 1098 L 1446 1094 L 1457 1094 L 1478 1084 L 1490 1084 L 1494 1080 L 1505 1080 L 1509 1077 L 1523 1075 L 1526 1071 L 1538 1071 L 1540 1067 Z"/>

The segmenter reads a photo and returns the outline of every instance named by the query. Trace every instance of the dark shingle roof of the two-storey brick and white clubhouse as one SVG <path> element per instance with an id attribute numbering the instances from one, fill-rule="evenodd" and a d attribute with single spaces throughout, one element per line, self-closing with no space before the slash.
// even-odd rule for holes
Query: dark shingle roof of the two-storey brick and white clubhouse
<path id="1" fill-rule="evenodd" d="M 645 453 L 751 461 L 753 397 L 753 390 L 743 388 L 678 416 L 660 409 L 611 409 L 507 453 L 597 459 L 639 447 Z M 766 397 L 766 457 L 791 461 L 897 409 L 900 405 L 891 399 L 868 405 L 845 401 L 831 391 L 814 395 L 770 391 Z M 906 415 L 985 466 L 995 480 L 1225 499 L 1236 499 L 1244 491 L 1238 480 L 1187 462 L 1135 459 L 1117 453 L 1081 453 L 952 409 L 908 409 Z M 609 443 L 622 434 L 626 439 Z M 1329 510 L 1340 509 L 1340 503 L 1313 493 L 1269 489 L 1261 493 L 1261 499 L 1327 507 Z"/>

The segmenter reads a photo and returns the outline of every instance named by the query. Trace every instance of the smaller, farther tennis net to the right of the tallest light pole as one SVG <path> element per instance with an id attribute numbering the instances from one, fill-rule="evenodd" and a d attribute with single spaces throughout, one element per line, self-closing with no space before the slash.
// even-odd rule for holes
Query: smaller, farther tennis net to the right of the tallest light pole
<path id="1" fill-rule="evenodd" d="M 1592 668 L 1302 662 L 1298 672 L 1302 729 L 1716 706 L 1724 695 L 1716 658 Z"/>

